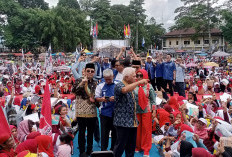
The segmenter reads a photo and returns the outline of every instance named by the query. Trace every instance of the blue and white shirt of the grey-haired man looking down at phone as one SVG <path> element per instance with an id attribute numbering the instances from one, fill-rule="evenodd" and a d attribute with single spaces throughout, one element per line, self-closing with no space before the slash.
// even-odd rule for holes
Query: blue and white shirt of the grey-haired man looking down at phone
<path id="1" fill-rule="evenodd" d="M 100 83 L 95 90 L 95 98 L 111 97 L 114 96 L 114 87 L 118 81 L 114 81 L 112 84 Z M 100 107 L 100 113 L 103 116 L 112 117 L 114 111 L 115 102 L 102 102 Z"/>

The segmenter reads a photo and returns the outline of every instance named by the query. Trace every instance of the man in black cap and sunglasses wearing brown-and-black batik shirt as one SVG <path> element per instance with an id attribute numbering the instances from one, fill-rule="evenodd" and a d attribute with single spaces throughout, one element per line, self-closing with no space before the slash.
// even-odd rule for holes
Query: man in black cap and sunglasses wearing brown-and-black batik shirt
<path id="1" fill-rule="evenodd" d="M 97 81 L 93 80 L 95 66 L 86 64 L 84 78 L 76 80 L 72 92 L 76 95 L 76 120 L 79 125 L 78 145 L 80 156 L 90 155 L 93 149 L 93 133 L 97 120 L 98 103 L 95 102 Z M 85 153 L 85 131 L 87 128 L 87 152 Z"/>

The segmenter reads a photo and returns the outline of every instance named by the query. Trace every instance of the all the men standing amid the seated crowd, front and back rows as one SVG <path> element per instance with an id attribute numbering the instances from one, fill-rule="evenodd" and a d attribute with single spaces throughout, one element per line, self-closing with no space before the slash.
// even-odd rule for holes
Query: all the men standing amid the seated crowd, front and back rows
<path id="1" fill-rule="evenodd" d="M 135 61 L 135 63 L 139 62 L 139 66 L 136 68 L 132 68 L 133 62 L 132 67 L 128 67 L 127 62 L 127 59 L 118 59 L 114 63 L 112 61 L 113 64 L 108 65 L 100 74 L 101 69 L 97 56 L 87 62 L 86 55 L 82 53 L 73 65 L 72 72 L 76 82 L 72 92 L 77 99 L 77 118 L 74 121 L 79 125 L 80 156 L 88 156 L 93 151 L 93 135 L 97 126 L 96 107 L 100 110 L 101 150 L 107 150 L 111 132 L 110 150 L 114 151 L 114 156 L 121 157 L 125 150 L 126 156 L 132 157 L 136 147 L 138 126 L 135 88 L 150 81 L 154 89 L 161 90 L 163 93 L 169 91 L 173 95 L 173 85 L 175 84 L 179 89 L 178 93 L 185 96 L 185 67 L 181 58 L 178 58 L 175 64 L 171 61 L 170 55 L 167 55 L 166 62 L 163 62 L 161 56 L 156 57 L 155 61 L 148 56 L 144 69 L 147 71 L 149 79 L 140 81 L 136 81 L 136 71 L 143 69 L 142 61 Z M 86 129 L 87 151 L 85 151 Z"/>

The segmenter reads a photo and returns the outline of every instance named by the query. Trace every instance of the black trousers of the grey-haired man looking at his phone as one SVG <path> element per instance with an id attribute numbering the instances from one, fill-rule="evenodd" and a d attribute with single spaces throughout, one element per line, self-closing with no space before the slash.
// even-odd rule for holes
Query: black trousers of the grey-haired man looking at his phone
<path id="1" fill-rule="evenodd" d="M 114 150 L 116 142 L 116 129 L 113 125 L 113 117 L 100 115 L 101 118 L 101 151 L 106 151 L 109 144 L 109 133 L 111 131 L 111 148 Z"/>

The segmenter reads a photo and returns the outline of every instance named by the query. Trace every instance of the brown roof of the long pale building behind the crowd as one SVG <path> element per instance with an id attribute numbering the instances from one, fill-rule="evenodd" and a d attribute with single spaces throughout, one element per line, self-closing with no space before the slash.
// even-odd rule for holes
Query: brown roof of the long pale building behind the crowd
<path id="1" fill-rule="evenodd" d="M 165 37 L 174 37 L 174 36 L 180 36 L 180 35 L 182 35 L 182 36 L 191 36 L 191 35 L 193 35 L 195 33 L 196 33 L 196 31 L 195 31 L 194 28 L 187 28 L 187 29 L 174 30 L 174 31 L 168 32 L 164 36 Z M 221 35 L 222 31 L 220 31 L 217 28 L 213 28 L 213 29 L 211 29 L 211 34 Z"/>

